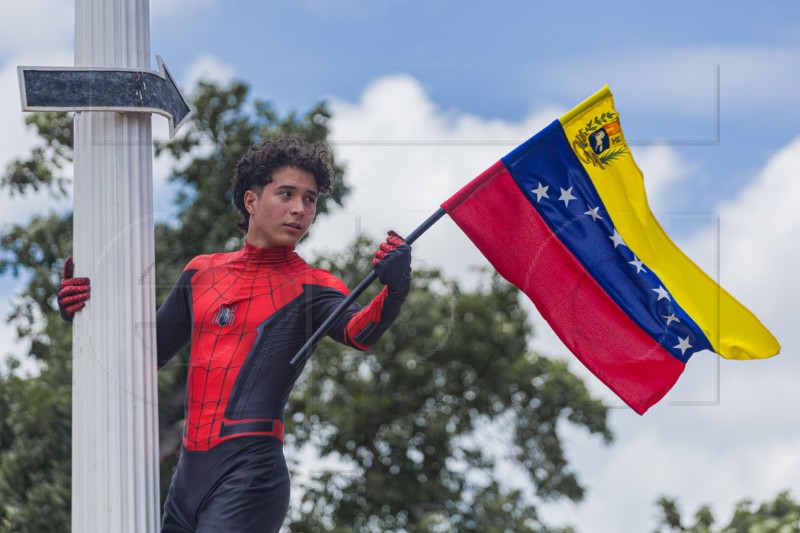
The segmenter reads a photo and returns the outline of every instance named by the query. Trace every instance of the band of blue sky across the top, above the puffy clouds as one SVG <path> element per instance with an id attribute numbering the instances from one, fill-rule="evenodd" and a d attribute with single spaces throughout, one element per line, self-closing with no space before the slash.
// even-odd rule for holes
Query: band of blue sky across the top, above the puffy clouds
<path id="1" fill-rule="evenodd" d="M 609 83 L 634 144 L 702 153 L 707 179 L 725 184 L 694 198 L 707 209 L 795 133 L 800 112 L 786 104 L 800 82 L 799 10 L 785 1 L 240 1 L 236 16 L 201 2 L 154 18 L 152 33 L 153 51 L 169 50 L 178 75 L 199 50 L 213 53 L 282 109 L 352 101 L 371 80 L 406 73 L 443 111 L 514 120 Z M 731 156 L 742 149 L 744 167 Z"/>

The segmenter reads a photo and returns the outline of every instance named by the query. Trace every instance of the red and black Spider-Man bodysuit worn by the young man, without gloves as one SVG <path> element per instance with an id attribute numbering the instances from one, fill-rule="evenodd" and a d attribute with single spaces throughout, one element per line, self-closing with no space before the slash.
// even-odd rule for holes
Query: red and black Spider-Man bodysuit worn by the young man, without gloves
<path id="1" fill-rule="evenodd" d="M 159 368 L 191 340 L 183 446 L 162 531 L 278 530 L 289 504 L 284 408 L 303 370 L 289 361 L 347 294 L 292 248 L 246 244 L 189 262 L 157 314 Z M 384 287 L 328 335 L 367 349 L 404 300 L 405 291 Z"/>

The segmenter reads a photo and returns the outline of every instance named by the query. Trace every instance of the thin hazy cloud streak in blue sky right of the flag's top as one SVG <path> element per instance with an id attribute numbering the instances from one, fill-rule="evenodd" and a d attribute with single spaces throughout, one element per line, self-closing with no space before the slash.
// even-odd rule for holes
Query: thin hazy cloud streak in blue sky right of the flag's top
<path id="1" fill-rule="evenodd" d="M 611 83 L 628 110 L 654 110 L 681 117 L 762 116 L 781 109 L 796 116 L 800 85 L 800 51 L 787 46 L 686 46 L 643 48 L 597 61 L 543 65 L 536 76 L 546 77 L 552 90 L 576 101 Z M 719 84 L 719 91 L 718 91 Z M 718 98 L 719 95 L 719 98 Z M 709 128 L 704 139 L 713 139 Z"/>

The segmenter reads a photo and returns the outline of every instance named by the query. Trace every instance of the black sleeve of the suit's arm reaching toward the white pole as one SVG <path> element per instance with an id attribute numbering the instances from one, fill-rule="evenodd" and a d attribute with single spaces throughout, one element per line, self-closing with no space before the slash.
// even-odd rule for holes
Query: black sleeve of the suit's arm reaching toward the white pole
<path id="1" fill-rule="evenodd" d="M 192 334 L 192 276 L 196 270 L 184 270 L 169 296 L 156 313 L 158 368 L 178 353 Z"/>

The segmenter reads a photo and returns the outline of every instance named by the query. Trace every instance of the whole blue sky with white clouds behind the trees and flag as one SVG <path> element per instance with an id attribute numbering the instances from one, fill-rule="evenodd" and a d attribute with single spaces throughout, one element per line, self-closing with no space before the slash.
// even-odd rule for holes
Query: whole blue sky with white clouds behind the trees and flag
<path id="1" fill-rule="evenodd" d="M 0 163 L 35 139 L 20 111 L 19 65 L 72 66 L 73 2 L 0 8 Z M 720 523 L 741 499 L 800 499 L 800 3 L 152 0 L 151 52 L 185 92 L 201 78 L 241 79 L 281 112 L 326 100 L 332 145 L 353 193 L 301 244 L 313 257 L 364 232 L 410 232 L 439 203 L 604 84 L 673 240 L 748 306 L 781 343 L 761 361 L 693 357 L 644 416 L 569 354 L 528 305 L 532 348 L 570 362 L 610 410 L 611 445 L 561 428 L 587 488 L 542 515 L 580 531 L 652 530 L 656 499 L 684 515 L 709 504 Z M 47 16 L 44 16 L 46 13 Z M 165 137 L 166 121 L 153 119 Z M 154 171 L 156 216 L 177 192 Z M 796 194 L 798 196 L 796 196 Z M 0 191 L 0 224 L 69 209 Z M 414 245 L 414 264 L 465 284 L 487 263 L 446 218 Z M 787 281 L 788 280 L 788 281 Z M 21 280 L 0 278 L 8 312 Z M 3 321 L 4 322 L 4 321 Z M 0 326 L 0 346 L 19 353 Z M 510 440 L 510 437 L 508 437 Z M 503 436 L 498 439 L 502 442 Z M 511 484 L 519 479 L 508 465 Z"/>

